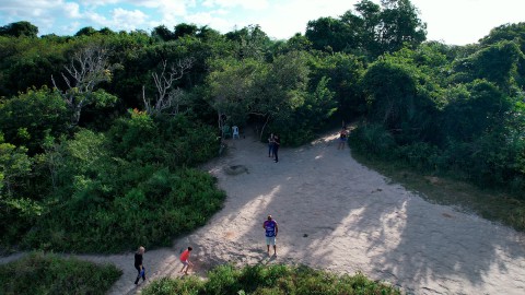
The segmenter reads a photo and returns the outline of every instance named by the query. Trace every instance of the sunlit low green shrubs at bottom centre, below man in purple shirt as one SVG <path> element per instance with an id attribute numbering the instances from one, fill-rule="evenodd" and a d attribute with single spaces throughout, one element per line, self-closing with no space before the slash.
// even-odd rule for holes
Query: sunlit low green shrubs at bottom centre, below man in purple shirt
<path id="1" fill-rule="evenodd" d="M 147 286 L 144 295 L 206 294 L 400 294 L 387 284 L 369 280 L 361 273 L 336 275 L 311 268 L 273 266 L 219 266 L 207 281 L 197 278 L 164 278 Z"/>

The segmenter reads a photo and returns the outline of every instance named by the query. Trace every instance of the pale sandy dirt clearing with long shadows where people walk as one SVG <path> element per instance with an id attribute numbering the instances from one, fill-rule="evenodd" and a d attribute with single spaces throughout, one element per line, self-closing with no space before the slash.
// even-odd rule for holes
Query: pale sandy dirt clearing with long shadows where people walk
<path id="1" fill-rule="evenodd" d="M 361 271 L 409 294 L 525 294 L 525 235 L 450 206 L 431 204 L 337 150 L 336 134 L 282 149 L 273 163 L 252 137 L 203 168 L 228 192 L 208 225 L 147 251 L 150 278 L 178 275 L 177 256 L 195 249 L 197 274 L 217 263 L 303 263 Z M 248 173 L 226 175 L 244 165 Z M 261 224 L 279 223 L 278 257 L 268 257 Z M 112 294 L 135 294 L 132 253 L 81 256 L 124 270 Z M 7 258 L 3 258 L 7 260 Z M 0 259 L 1 261 L 1 259 Z"/>

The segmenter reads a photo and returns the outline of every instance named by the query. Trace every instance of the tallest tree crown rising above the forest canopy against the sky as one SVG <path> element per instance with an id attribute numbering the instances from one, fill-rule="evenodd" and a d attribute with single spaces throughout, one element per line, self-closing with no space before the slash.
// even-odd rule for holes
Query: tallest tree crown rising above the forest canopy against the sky
<path id="1" fill-rule="evenodd" d="M 347 11 L 339 19 L 308 22 L 305 35 L 318 50 L 364 52 L 375 58 L 404 45 L 416 47 L 425 40 L 425 28 L 410 0 L 384 0 L 381 7 L 362 0 L 355 11 Z"/>

